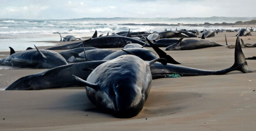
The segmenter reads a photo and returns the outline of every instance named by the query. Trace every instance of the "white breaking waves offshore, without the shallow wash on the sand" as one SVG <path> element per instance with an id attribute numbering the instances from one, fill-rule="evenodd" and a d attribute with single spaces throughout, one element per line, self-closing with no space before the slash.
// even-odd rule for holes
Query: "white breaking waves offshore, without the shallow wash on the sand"
<path id="1" fill-rule="evenodd" d="M 110 23 L 110 22 L 86 22 L 86 21 L 48 21 L 48 20 L 0 20 L 0 36 L 1 35 L 34 35 L 34 34 L 54 34 L 60 32 L 61 34 L 86 34 L 91 36 L 95 30 L 99 34 L 106 34 L 120 32 L 125 30 L 135 31 L 163 31 L 179 29 L 236 29 L 239 27 L 204 27 L 204 26 L 126 26 L 120 25 L 125 23 Z"/>

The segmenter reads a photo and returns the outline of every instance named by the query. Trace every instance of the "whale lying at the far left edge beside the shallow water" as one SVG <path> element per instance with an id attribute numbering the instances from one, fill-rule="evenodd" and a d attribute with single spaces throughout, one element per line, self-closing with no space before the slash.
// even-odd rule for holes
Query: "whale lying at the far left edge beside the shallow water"
<path id="1" fill-rule="evenodd" d="M 65 58 L 55 51 L 39 50 L 36 46 L 35 48 L 36 49 L 13 53 L 6 58 L 0 59 L 0 65 L 29 68 L 54 68 L 68 64 Z"/>

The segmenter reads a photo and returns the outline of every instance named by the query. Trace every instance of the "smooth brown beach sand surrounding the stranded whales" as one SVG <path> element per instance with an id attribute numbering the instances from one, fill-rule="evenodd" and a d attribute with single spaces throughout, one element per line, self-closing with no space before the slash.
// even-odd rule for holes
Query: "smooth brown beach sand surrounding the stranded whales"
<path id="1" fill-rule="evenodd" d="M 236 32 L 220 32 L 206 39 L 225 45 L 224 34 L 229 44 L 234 45 Z M 256 32 L 241 38 L 245 43 L 256 43 Z M 149 47 L 147 49 L 152 50 Z M 255 48 L 242 50 L 245 57 L 256 56 Z M 166 53 L 184 66 L 199 69 L 225 69 L 234 62 L 234 49 L 225 46 Z M 0 54 L 8 56 L 9 52 Z M 3 58 L 3 55 L 0 57 Z M 247 62 L 252 70 L 256 70 L 256 60 Z M 44 70 L 1 69 L 0 88 L 7 87 L 22 76 Z M 255 130 L 255 78 L 256 73 L 234 71 L 225 75 L 153 80 L 143 110 L 138 116 L 129 119 L 119 119 L 99 111 L 87 99 L 83 87 L 0 90 L 0 130 Z"/>

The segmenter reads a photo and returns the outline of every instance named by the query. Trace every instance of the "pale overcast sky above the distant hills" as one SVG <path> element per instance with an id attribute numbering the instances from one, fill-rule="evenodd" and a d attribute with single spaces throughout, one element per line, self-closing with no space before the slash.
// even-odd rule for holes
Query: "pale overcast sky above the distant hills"
<path id="1" fill-rule="evenodd" d="M 256 0 L 0 0 L 0 18 L 255 17 Z"/>

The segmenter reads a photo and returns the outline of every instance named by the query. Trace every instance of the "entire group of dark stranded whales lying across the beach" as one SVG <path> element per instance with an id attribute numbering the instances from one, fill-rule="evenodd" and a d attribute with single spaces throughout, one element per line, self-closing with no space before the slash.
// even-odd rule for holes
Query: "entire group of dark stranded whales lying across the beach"
<path id="1" fill-rule="evenodd" d="M 235 43 L 234 64 L 221 70 L 203 70 L 180 65 L 159 47 L 171 50 L 194 50 L 225 46 L 208 40 L 215 33 L 227 30 L 163 30 L 121 31 L 109 35 L 95 31 L 92 38 L 79 41 L 75 36 L 65 36 L 61 41 L 76 41 L 47 49 L 28 48 L 0 59 L 1 66 L 46 68 L 48 70 L 19 78 L 5 90 L 41 90 L 84 86 L 88 99 L 101 111 L 116 117 L 138 115 L 150 92 L 153 79 L 178 76 L 219 75 L 238 70 L 254 72 L 246 62 L 240 36 L 251 35 L 248 28 L 238 30 Z M 229 30 L 227 32 L 233 32 Z M 201 32 L 201 35 L 199 35 Z M 179 39 L 173 39 L 179 38 Z M 185 38 L 185 40 L 183 40 Z M 193 39 L 194 38 L 194 39 Z M 197 38 L 197 39 L 195 39 Z M 76 40 L 79 39 L 79 40 Z M 226 35 L 225 35 L 226 39 Z M 241 39 L 242 45 L 247 46 Z M 227 41 L 226 41 L 226 45 Z M 147 47 L 147 48 L 145 48 Z M 116 49 L 108 49 L 116 48 Z M 121 48 L 121 49 L 118 49 Z M 153 48 L 154 51 L 148 48 Z M 53 50 L 65 50 L 57 53 Z M 188 56 L 189 57 L 189 56 Z"/>

